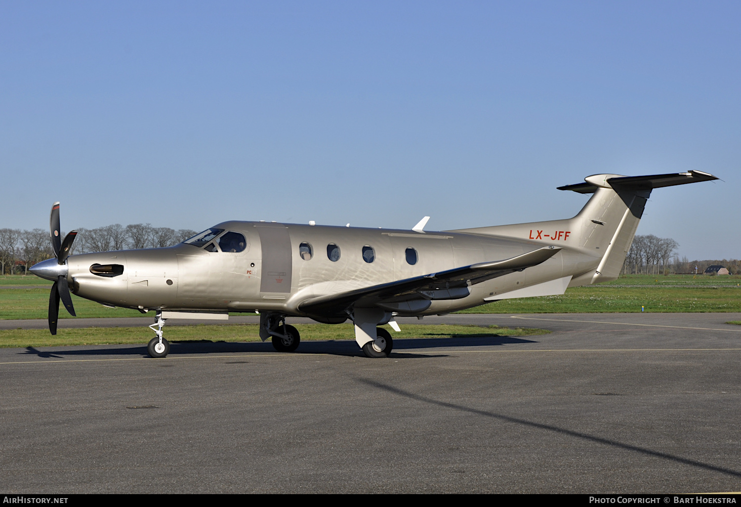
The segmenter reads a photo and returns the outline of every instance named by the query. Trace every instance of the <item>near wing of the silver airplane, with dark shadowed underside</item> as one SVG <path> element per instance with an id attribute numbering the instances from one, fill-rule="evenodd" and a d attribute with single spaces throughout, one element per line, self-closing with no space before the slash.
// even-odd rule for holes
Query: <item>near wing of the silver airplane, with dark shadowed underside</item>
<path id="1" fill-rule="evenodd" d="M 488 279 L 522 271 L 550 259 L 561 248 L 548 246 L 522 255 L 494 262 L 479 262 L 439 273 L 414 276 L 396 282 L 382 283 L 354 291 L 307 299 L 299 311 L 307 314 L 345 315 L 351 306 L 367 308 L 376 303 L 404 302 L 413 299 L 460 299 L 468 296 L 468 287 Z M 428 305 L 429 306 L 429 305 Z"/>

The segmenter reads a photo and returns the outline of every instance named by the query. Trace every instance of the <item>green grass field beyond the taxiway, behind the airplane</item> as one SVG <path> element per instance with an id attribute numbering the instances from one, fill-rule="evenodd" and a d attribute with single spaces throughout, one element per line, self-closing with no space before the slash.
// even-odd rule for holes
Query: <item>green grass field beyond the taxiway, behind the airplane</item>
<path id="1" fill-rule="evenodd" d="M 31 285 L 36 276 L 0 276 L 2 285 Z M 136 310 L 106 308 L 72 296 L 78 317 L 151 317 Z M 45 319 L 49 288 L 0 288 L 0 319 Z M 470 314 L 588 312 L 741 312 L 741 276 L 628 275 L 614 282 L 567 289 L 562 296 L 502 299 L 470 308 Z M 237 314 L 233 314 L 237 315 Z M 70 318 L 64 308 L 59 317 Z"/>

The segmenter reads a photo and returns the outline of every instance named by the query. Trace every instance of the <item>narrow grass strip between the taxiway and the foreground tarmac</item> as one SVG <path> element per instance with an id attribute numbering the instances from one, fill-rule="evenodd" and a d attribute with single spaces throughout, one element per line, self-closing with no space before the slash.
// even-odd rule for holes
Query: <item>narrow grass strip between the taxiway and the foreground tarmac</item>
<path id="1" fill-rule="evenodd" d="M 536 328 L 499 328 L 496 325 L 404 325 L 396 333 L 388 326 L 395 339 L 399 338 L 461 338 L 461 337 L 528 337 L 551 331 Z M 259 326 L 247 325 L 182 325 L 165 330 L 170 342 L 259 342 Z M 305 340 L 354 339 L 350 324 L 296 324 Z M 59 329 L 51 336 L 46 329 L 10 329 L 0 331 L 0 347 L 49 347 L 57 345 L 106 345 L 116 343 L 147 343 L 153 333 L 147 328 L 76 328 Z"/>

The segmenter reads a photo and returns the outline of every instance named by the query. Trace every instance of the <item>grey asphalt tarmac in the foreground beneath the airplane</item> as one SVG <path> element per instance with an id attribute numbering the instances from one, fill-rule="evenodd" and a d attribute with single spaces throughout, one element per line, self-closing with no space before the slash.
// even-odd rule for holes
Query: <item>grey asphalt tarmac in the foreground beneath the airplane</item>
<path id="1" fill-rule="evenodd" d="M 449 315 L 422 323 L 554 332 L 398 339 L 388 359 L 350 340 L 4 348 L 0 490 L 740 491 L 728 320 Z"/>

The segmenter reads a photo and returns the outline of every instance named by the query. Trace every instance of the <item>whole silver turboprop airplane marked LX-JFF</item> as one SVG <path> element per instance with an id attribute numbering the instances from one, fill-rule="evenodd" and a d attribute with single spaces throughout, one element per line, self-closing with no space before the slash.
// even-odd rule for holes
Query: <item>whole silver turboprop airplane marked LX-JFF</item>
<path id="1" fill-rule="evenodd" d="M 59 202 L 50 216 L 56 258 L 30 268 L 54 282 L 49 329 L 59 301 L 76 317 L 70 291 L 115 308 L 155 311 L 150 357 L 166 357 L 167 319 L 228 319 L 257 312 L 259 336 L 291 352 L 300 336 L 286 317 L 340 324 L 351 319 L 368 357 L 388 357 L 396 317 L 444 315 L 502 299 L 564 294 L 617 279 L 654 188 L 718 179 L 700 170 L 650 176 L 595 174 L 558 187 L 592 193 L 571 219 L 425 231 L 227 221 L 167 248 L 70 255 Z"/>

